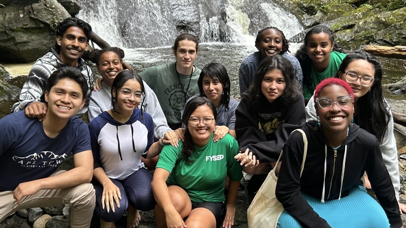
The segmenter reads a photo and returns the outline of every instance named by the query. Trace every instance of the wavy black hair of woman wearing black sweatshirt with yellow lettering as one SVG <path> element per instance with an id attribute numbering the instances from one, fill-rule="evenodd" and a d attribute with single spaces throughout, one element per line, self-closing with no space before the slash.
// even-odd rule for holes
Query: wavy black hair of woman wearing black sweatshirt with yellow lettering
<path id="1" fill-rule="evenodd" d="M 258 110 L 261 102 L 266 99 L 261 91 L 261 84 L 265 73 L 269 70 L 280 70 L 282 72 L 286 84 L 281 96 L 284 104 L 297 101 L 300 97 L 300 85 L 294 80 L 294 70 L 290 61 L 280 55 L 269 56 L 260 63 L 250 87 L 242 94 L 242 98 L 248 100 L 250 108 L 254 110 Z"/>

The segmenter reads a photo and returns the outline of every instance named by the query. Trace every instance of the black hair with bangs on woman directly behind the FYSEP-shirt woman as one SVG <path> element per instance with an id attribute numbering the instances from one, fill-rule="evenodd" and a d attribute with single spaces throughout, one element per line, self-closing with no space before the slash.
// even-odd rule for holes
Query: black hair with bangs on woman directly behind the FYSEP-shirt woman
<path id="1" fill-rule="evenodd" d="M 230 103 L 230 78 L 226 68 L 220 63 L 209 63 L 200 72 L 199 79 L 197 80 L 197 86 L 199 87 L 199 93 L 201 97 L 206 97 L 203 90 L 203 78 L 208 76 L 213 80 L 218 80 L 223 86 L 223 94 L 221 103 L 226 106 L 226 110 L 229 110 Z"/>

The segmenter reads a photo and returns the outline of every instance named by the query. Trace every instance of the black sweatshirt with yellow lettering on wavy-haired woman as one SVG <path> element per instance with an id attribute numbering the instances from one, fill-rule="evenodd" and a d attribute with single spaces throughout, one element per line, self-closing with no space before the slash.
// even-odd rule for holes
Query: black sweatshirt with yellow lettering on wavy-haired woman
<path id="1" fill-rule="evenodd" d="M 236 135 L 240 150 L 247 148 L 263 162 L 276 161 L 289 134 L 306 122 L 303 96 L 285 105 L 281 97 L 273 103 L 266 99 L 256 109 L 242 99 L 236 109 Z"/>

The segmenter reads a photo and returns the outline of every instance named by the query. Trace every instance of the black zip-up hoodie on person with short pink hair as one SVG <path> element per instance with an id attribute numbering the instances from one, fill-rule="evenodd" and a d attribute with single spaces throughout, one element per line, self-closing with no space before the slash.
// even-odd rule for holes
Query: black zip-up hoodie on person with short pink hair
<path id="1" fill-rule="evenodd" d="M 341 197 L 345 197 L 350 189 L 362 185 L 360 179 L 366 171 L 372 189 L 389 219 L 390 227 L 398 228 L 402 225 L 393 185 L 383 164 L 378 140 L 374 135 L 359 128 L 358 125 L 350 123 L 348 136 L 336 151 L 337 157 L 335 167 L 333 167 L 334 150 L 328 144 L 316 121 L 309 121 L 302 129 L 308 140 L 307 157 L 302 176 L 300 177 L 303 137 L 300 132 L 294 132 L 283 147 L 282 165 L 276 185 L 276 197 L 287 212 L 298 219 L 303 227 L 330 227 L 313 210 L 300 192 L 321 199 L 323 181 L 325 181 L 324 200 L 337 199 L 341 185 Z M 327 146 L 326 160 L 325 145 Z M 341 183 L 345 145 L 347 153 Z M 325 161 L 326 177 L 324 180 Z M 329 190 L 331 179 L 331 190 Z"/>

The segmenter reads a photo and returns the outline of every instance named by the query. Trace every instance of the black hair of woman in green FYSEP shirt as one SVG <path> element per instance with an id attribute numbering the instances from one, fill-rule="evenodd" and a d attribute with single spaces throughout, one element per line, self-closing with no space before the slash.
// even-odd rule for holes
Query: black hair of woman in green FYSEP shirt
<path id="1" fill-rule="evenodd" d="M 210 109 L 212 109 L 214 119 L 217 120 L 217 111 L 216 111 L 216 106 L 214 103 L 207 97 L 193 97 L 190 99 L 186 106 L 184 107 L 183 115 L 182 115 L 182 123 L 186 126 L 186 132 L 184 133 L 184 141 L 182 145 L 182 155 L 184 159 L 188 162 L 193 162 L 192 160 L 189 159 L 190 155 L 192 152 L 194 152 L 194 143 L 191 138 L 191 134 L 188 129 L 188 121 L 190 118 L 190 115 L 196 110 L 197 107 L 201 105 L 207 105 L 209 106 Z M 215 124 L 215 123 L 213 123 Z"/>

